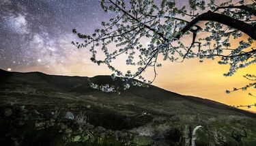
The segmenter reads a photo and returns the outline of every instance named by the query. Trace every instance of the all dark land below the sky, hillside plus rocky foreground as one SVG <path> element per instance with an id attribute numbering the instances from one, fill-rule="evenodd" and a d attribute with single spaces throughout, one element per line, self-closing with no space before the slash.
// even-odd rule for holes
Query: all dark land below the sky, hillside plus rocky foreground
<path id="1" fill-rule="evenodd" d="M 3 145 L 256 145 L 256 114 L 150 87 L 106 93 L 111 76 L 53 76 L 0 70 Z M 233 133 L 241 141 L 233 138 Z"/>

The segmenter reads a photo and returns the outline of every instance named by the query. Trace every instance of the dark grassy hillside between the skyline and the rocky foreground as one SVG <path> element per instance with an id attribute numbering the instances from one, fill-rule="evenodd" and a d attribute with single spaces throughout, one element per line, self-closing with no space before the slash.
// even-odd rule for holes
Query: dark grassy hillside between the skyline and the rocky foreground
<path id="1" fill-rule="evenodd" d="M 154 86 L 132 87 L 120 96 L 116 93 L 102 93 L 91 89 L 87 79 L 0 70 L 1 111 L 6 108 L 15 111 L 25 106 L 27 111 L 36 110 L 42 115 L 49 115 L 51 111 L 60 111 L 62 114 L 72 111 L 74 115 L 86 112 L 89 123 L 94 126 L 131 132 L 139 126 L 149 126 L 159 131 L 162 127 L 174 126 L 182 130 L 186 124 L 192 127 L 201 124 L 205 127 L 205 130 L 199 131 L 199 143 L 202 144 L 215 143 L 212 136 L 218 132 L 230 143 L 236 143 L 230 137 L 231 131 L 239 131 L 244 127 L 248 131 L 244 143 L 256 143 L 253 113 L 234 110 L 211 100 L 182 96 Z M 109 76 L 96 76 L 90 80 L 98 84 L 112 82 Z M 148 114 L 141 115 L 143 112 Z M 1 116 L 4 117 L 3 112 Z M 10 120 L 19 122 L 18 118 Z M 33 120 L 36 121 L 36 117 Z"/>

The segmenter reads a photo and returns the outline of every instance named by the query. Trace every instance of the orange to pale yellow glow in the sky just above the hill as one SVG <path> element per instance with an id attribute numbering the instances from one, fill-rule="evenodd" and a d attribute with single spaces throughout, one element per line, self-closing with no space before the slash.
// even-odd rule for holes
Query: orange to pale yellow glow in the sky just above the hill
<path id="1" fill-rule="evenodd" d="M 201 36 L 202 37 L 202 36 Z M 186 37 L 184 37 L 186 38 Z M 238 40 L 231 40 L 231 46 L 234 48 L 238 46 L 241 40 L 247 40 L 246 36 Z M 185 40 L 186 41 L 186 40 Z M 256 42 L 252 46 L 256 46 Z M 70 60 L 66 63 L 54 64 L 54 68 L 29 67 L 19 70 L 22 72 L 40 71 L 46 74 L 59 74 L 68 76 L 97 76 L 101 74 L 112 74 L 106 65 L 96 65 L 87 59 L 83 52 L 74 53 L 70 55 Z M 83 51 L 83 50 L 81 50 Z M 122 57 L 124 59 L 124 57 Z M 243 76 L 245 74 L 256 74 L 256 64 L 250 65 L 246 68 L 238 70 L 233 76 L 225 77 L 224 73 L 228 72 L 229 65 L 219 65 L 218 59 L 207 60 L 199 63 L 199 59 L 187 59 L 183 63 L 173 63 L 171 61 L 163 61 L 162 67 L 157 69 L 158 76 L 153 85 L 180 93 L 188 96 L 196 96 L 200 98 L 207 98 L 227 105 L 248 105 L 255 104 L 256 98 L 248 96 L 251 92 L 256 95 L 255 89 L 248 89 L 248 91 L 236 91 L 233 93 L 225 93 L 226 89 L 232 90 L 233 87 L 244 87 L 250 83 Z M 125 60 L 124 60 L 125 61 Z M 125 65 L 115 61 L 121 69 L 126 69 Z M 145 77 L 152 78 L 152 72 L 145 73 Z M 242 108 L 244 110 L 256 112 L 256 107 L 252 106 L 251 109 Z"/>

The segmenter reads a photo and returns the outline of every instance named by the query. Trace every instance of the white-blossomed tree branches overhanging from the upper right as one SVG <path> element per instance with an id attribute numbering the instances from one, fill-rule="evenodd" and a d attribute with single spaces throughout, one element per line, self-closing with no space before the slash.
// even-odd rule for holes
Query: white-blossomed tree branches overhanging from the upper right
<path id="1" fill-rule="evenodd" d="M 83 43 L 72 44 L 77 48 L 89 48 L 91 61 L 106 64 L 114 72 L 113 79 L 122 77 L 124 89 L 130 85 L 143 85 L 131 80 L 133 78 L 152 83 L 154 79 L 147 81 L 142 73 L 151 67 L 156 78 L 156 67 L 161 66 L 159 56 L 176 62 L 217 58 L 219 64 L 230 65 L 224 76 L 232 76 L 239 68 L 256 62 L 256 46 L 252 45 L 256 40 L 255 5 L 255 0 L 250 3 L 244 3 L 244 0 L 238 3 L 188 0 L 188 5 L 179 8 L 172 0 L 160 3 L 153 0 L 101 0 L 102 9 L 115 16 L 109 22 L 102 22 L 102 28 L 95 29 L 91 35 L 73 29 Z M 230 40 L 238 40 L 242 35 L 248 38 L 236 47 L 231 46 Z M 143 40 L 150 40 L 150 43 L 145 44 Z M 100 51 L 104 59 L 96 57 Z M 112 62 L 122 54 L 127 55 L 127 65 L 137 66 L 135 72 L 115 68 Z M 109 85 L 92 86 L 117 91 L 117 87 Z"/>

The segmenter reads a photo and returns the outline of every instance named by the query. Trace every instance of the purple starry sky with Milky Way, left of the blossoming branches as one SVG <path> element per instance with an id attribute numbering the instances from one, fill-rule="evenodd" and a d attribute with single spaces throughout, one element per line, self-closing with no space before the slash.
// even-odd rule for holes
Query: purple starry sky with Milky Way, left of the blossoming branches
<path id="1" fill-rule="evenodd" d="M 109 18 L 99 1 L 0 1 L 0 68 L 5 70 L 51 68 L 79 59 L 70 44 L 72 29 L 92 33 Z"/>

